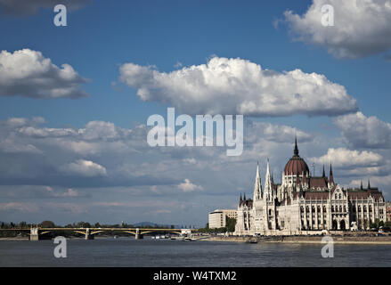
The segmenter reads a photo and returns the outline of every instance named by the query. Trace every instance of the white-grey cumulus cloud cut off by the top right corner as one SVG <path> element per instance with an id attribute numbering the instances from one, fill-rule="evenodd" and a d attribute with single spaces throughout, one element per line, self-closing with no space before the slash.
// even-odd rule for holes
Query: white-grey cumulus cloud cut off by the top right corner
<path id="1" fill-rule="evenodd" d="M 334 10 L 334 26 L 322 25 L 322 6 Z M 284 12 L 296 39 L 325 47 L 338 58 L 362 58 L 391 48 L 390 0 L 313 0 L 303 15 Z"/>

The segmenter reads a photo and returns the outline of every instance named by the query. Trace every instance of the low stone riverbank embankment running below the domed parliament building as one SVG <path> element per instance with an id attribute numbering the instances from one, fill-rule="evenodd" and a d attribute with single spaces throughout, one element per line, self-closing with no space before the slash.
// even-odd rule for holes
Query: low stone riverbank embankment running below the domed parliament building
<path id="1" fill-rule="evenodd" d="M 335 244 L 379 244 L 391 245 L 391 236 L 331 236 Z M 237 236 L 212 236 L 205 241 L 230 241 L 230 242 L 248 242 L 257 241 L 273 243 L 322 243 L 322 236 L 290 236 L 290 237 L 237 237 Z"/>

